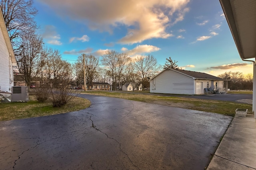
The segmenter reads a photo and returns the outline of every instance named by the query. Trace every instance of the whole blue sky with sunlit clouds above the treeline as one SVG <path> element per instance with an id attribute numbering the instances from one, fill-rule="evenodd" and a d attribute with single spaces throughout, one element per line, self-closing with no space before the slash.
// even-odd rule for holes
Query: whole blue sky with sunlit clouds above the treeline
<path id="1" fill-rule="evenodd" d="M 74 63 L 106 50 L 153 55 L 184 70 L 252 73 L 240 59 L 219 0 L 34 0 L 45 45 Z"/>

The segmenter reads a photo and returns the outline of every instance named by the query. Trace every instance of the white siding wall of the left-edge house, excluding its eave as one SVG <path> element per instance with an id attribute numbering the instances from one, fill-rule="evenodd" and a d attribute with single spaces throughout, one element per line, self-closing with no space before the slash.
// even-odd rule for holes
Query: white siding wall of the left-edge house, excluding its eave
<path id="1" fill-rule="evenodd" d="M 13 86 L 12 62 L 0 28 L 0 86 L 2 92 L 11 92 Z"/>

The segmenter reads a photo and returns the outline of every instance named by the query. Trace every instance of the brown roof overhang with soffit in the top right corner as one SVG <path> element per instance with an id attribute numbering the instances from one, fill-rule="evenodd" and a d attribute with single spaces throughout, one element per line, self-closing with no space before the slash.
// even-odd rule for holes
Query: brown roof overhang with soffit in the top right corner
<path id="1" fill-rule="evenodd" d="M 256 0 L 220 0 L 241 59 L 256 57 Z"/>

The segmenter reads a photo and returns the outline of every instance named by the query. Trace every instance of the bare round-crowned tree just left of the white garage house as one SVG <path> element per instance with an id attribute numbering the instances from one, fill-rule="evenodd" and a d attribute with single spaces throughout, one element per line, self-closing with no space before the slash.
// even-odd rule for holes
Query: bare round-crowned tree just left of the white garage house
<path id="1" fill-rule="evenodd" d="M 135 59 L 135 68 L 141 78 L 141 84 L 144 90 L 144 84 L 148 81 L 150 74 L 153 74 L 157 67 L 156 58 L 152 55 L 140 56 Z"/>

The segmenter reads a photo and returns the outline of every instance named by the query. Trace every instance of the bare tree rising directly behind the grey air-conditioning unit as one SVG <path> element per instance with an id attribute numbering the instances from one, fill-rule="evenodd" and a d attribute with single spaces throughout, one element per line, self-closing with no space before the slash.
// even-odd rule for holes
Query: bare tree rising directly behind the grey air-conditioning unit
<path id="1" fill-rule="evenodd" d="M 21 53 L 16 58 L 19 71 L 24 74 L 25 81 L 29 85 L 32 78 L 40 72 L 40 53 L 43 40 L 35 33 L 27 34 L 22 36 L 21 44 Z"/>

